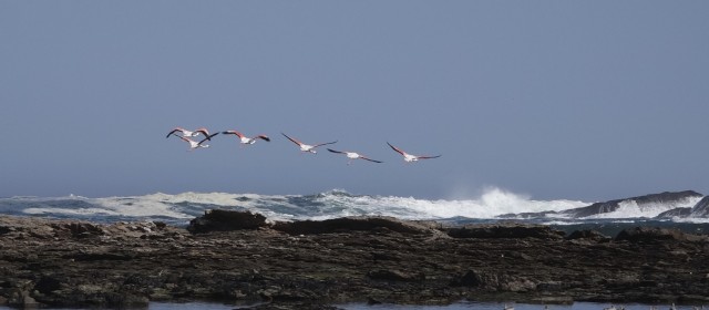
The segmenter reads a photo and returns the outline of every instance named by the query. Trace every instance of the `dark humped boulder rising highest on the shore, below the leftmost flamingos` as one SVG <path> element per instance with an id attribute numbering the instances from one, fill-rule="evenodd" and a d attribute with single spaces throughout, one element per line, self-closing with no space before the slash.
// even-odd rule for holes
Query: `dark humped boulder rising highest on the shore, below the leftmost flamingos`
<path id="1" fill-rule="evenodd" d="M 229 231 L 266 227 L 266 217 L 250 211 L 207 210 L 189 221 L 189 232 Z"/>

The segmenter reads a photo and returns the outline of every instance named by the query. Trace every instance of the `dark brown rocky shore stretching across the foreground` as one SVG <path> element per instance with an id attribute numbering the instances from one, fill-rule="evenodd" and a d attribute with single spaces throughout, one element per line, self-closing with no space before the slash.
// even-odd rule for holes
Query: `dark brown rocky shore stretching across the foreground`
<path id="1" fill-rule="evenodd" d="M 223 210 L 186 228 L 0 217 L 0 306 L 333 309 L 463 299 L 708 303 L 709 239 L 651 227 L 603 236 L 383 217 L 267 223 Z"/>

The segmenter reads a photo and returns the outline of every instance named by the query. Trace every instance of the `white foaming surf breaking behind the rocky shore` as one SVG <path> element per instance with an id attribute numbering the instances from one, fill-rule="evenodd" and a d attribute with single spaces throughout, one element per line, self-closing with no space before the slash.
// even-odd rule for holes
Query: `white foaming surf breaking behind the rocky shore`
<path id="1" fill-rule="evenodd" d="M 625 202 L 612 214 L 593 219 L 631 219 L 657 215 L 675 207 L 696 203 L 637 206 Z M 635 204 L 635 205 L 634 205 Z M 333 189 L 312 195 L 258 195 L 230 193 L 156 193 L 143 196 L 89 198 L 11 197 L 0 198 L 0 214 L 78 218 L 92 221 L 161 220 L 185 225 L 207 209 L 249 210 L 268 220 L 321 220 L 346 216 L 391 216 L 413 220 L 470 223 L 515 218 L 516 214 L 540 214 L 537 221 L 573 223 L 554 214 L 590 205 L 578 200 L 534 200 L 528 197 L 490 188 L 473 199 L 420 199 L 414 197 L 353 195 Z M 543 214 L 547 213 L 547 214 Z M 528 219 L 528 218 L 527 218 Z"/>

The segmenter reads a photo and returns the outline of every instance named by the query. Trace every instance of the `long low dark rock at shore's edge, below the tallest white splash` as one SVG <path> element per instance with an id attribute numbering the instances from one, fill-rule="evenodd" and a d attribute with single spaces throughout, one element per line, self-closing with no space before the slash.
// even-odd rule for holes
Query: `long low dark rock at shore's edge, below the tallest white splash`
<path id="1" fill-rule="evenodd" d="M 564 231 L 542 225 L 480 225 L 446 229 L 453 238 L 538 238 L 562 239 Z"/>

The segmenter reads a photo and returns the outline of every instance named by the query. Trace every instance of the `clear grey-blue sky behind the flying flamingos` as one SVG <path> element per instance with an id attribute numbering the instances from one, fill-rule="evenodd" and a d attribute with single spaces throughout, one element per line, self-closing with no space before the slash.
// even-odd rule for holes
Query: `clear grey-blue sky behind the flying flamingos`
<path id="1" fill-rule="evenodd" d="M 0 1 L 0 197 L 709 194 L 707 1 Z M 217 135 L 187 151 L 176 126 Z M 305 143 L 338 141 L 382 164 Z M 440 158 L 407 164 L 387 142 Z"/>

